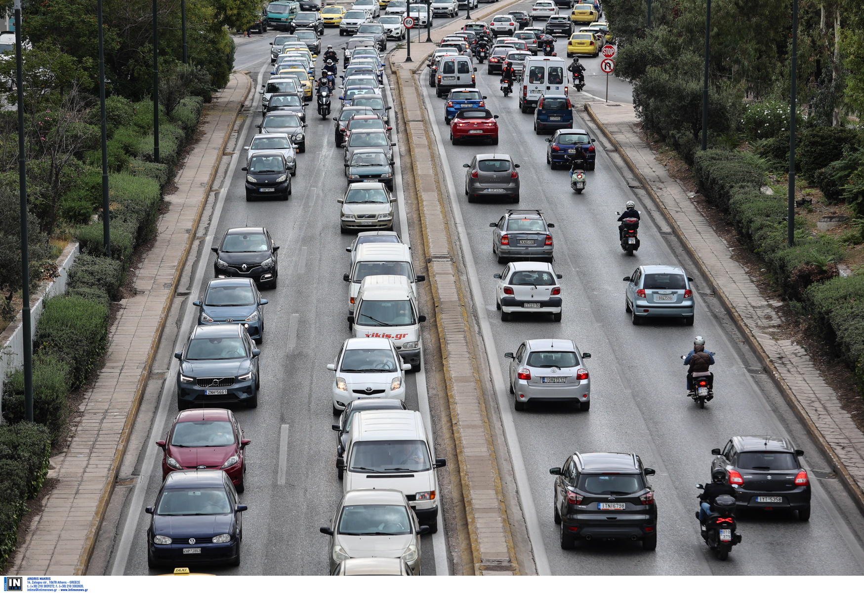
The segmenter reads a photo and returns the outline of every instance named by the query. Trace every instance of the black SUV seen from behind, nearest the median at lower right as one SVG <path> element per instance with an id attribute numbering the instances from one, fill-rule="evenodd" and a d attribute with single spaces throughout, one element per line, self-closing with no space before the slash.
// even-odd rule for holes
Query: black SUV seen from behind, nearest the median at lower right
<path id="1" fill-rule="evenodd" d="M 555 522 L 561 547 L 576 539 L 641 540 L 657 548 L 657 505 L 648 476 L 635 453 L 574 453 L 549 473 L 555 480 Z"/>

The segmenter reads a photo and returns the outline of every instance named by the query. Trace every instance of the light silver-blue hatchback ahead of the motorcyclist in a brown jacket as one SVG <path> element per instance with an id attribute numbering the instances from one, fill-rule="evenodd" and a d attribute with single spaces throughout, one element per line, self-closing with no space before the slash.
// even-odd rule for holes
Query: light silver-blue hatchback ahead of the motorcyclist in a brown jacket
<path id="1" fill-rule="evenodd" d="M 683 319 L 684 325 L 693 325 L 696 308 L 690 288 L 693 279 L 683 268 L 639 266 L 624 281 L 625 308 L 633 325 L 639 325 L 646 317 Z"/>

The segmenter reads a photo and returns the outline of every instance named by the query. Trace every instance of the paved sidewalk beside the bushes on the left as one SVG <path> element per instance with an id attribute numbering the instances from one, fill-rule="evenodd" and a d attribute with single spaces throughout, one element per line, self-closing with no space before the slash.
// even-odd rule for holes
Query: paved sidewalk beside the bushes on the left
<path id="1" fill-rule="evenodd" d="M 248 76 L 232 73 L 226 88 L 205 105 L 200 141 L 175 177 L 177 191 L 165 198 L 168 212 L 159 220 L 156 243 L 136 271 L 136 295 L 120 301 L 105 367 L 79 408 L 68 450 L 52 459 L 48 477 L 59 483 L 19 543 L 10 574 L 86 572 L 194 229 L 250 90 Z"/>

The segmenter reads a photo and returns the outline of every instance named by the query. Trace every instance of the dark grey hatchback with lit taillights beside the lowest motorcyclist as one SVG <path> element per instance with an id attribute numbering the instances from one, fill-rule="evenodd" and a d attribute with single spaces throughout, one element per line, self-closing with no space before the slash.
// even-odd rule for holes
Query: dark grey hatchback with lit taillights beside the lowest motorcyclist
<path id="1" fill-rule="evenodd" d="M 725 470 L 738 490 L 738 508 L 797 510 L 799 520 L 810 520 L 810 479 L 795 449 L 782 437 L 733 437 L 715 455 L 711 471 Z"/>

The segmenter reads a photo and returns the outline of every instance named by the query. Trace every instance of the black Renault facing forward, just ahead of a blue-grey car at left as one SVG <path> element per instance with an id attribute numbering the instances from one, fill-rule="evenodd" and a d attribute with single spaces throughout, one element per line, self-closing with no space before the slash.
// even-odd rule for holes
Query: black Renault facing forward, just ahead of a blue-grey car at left
<path id="1" fill-rule="evenodd" d="M 216 254 L 213 274 L 217 278 L 251 278 L 261 287 L 276 288 L 279 246 L 264 227 L 228 229 L 219 247 L 211 249 Z"/>

